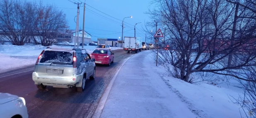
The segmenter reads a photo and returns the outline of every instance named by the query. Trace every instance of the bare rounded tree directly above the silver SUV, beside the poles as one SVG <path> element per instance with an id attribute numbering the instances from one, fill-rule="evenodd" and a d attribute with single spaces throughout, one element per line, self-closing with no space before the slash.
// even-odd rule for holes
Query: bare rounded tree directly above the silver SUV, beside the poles
<path id="1" fill-rule="evenodd" d="M 66 15 L 53 5 L 44 6 L 42 2 L 35 4 L 37 7 L 34 12 L 33 31 L 39 34 L 36 37 L 40 39 L 42 46 L 49 46 L 57 40 L 60 30 L 68 28 Z"/>

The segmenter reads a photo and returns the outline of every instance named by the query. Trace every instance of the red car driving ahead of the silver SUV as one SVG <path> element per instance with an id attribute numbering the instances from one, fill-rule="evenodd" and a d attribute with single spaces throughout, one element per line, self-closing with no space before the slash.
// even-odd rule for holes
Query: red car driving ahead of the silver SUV
<path id="1" fill-rule="evenodd" d="M 95 49 L 91 56 L 95 58 L 96 64 L 106 64 L 110 66 L 111 63 L 114 63 L 114 53 L 109 49 Z"/>

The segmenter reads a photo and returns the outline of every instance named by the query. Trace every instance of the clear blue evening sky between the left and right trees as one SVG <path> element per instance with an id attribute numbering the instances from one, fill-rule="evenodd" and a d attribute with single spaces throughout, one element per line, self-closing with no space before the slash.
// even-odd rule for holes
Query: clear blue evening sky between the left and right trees
<path id="1" fill-rule="evenodd" d="M 31 0 L 34 1 L 34 0 Z M 80 2 L 79 0 L 42 0 L 44 4 L 54 4 L 66 14 L 70 29 L 75 29 L 74 18 L 77 15 L 77 5 L 70 1 Z M 84 0 L 81 0 L 84 2 Z M 149 17 L 144 12 L 148 11 L 151 0 L 86 0 L 86 4 L 95 9 L 104 12 L 116 19 L 107 16 L 92 7 L 86 6 L 85 11 L 85 31 L 92 34 L 92 40 L 97 40 L 98 37 L 118 39 L 122 36 L 121 23 L 124 17 L 126 18 L 123 31 L 123 36 L 134 36 L 134 25 L 136 25 L 136 37 L 145 38 L 145 32 L 142 29 L 144 22 L 149 21 Z M 82 4 L 83 5 L 83 4 Z M 96 13 L 95 13 L 96 12 Z M 102 15 L 102 16 L 101 16 Z M 120 20 L 118 20 L 120 19 Z M 80 7 L 79 27 L 82 29 L 83 7 Z M 128 23 L 128 24 L 127 24 Z"/>

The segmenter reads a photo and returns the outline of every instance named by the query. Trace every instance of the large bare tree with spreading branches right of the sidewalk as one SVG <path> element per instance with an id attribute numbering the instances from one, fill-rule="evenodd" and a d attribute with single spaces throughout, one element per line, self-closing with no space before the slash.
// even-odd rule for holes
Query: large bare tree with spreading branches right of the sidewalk
<path id="1" fill-rule="evenodd" d="M 256 44 L 251 21 L 245 21 L 245 11 L 239 9 L 237 29 L 233 31 L 235 5 L 226 0 L 154 0 L 156 9 L 148 12 L 170 32 L 169 40 L 175 48 L 177 60 L 165 53 L 162 62 L 177 67 L 180 79 L 191 82 L 193 72 L 212 72 L 229 75 L 249 81 L 239 75 L 233 75 L 238 69 L 255 66 L 256 57 L 253 47 Z M 232 31 L 234 36 L 232 37 Z M 232 43 L 231 43 L 232 41 Z M 169 50 L 168 53 L 173 50 Z M 246 54 L 241 55 L 244 52 Z M 227 66 L 228 55 L 234 57 L 231 66 Z"/>

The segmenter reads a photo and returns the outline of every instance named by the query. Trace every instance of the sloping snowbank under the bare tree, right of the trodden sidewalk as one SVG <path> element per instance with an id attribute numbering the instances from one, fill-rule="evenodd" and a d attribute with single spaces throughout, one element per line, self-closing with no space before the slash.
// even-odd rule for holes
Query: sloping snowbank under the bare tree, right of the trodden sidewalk
<path id="1" fill-rule="evenodd" d="M 151 58 L 151 55 L 147 58 Z M 148 65 L 155 65 L 152 58 L 145 61 Z M 201 118 L 241 118 L 240 112 L 242 117 L 246 118 L 241 106 L 233 103 L 234 98 L 238 99 L 244 92 L 236 79 L 228 78 L 227 83 L 226 77 L 208 73 L 209 78 L 204 77 L 204 79 L 211 82 L 190 84 L 181 79 L 169 77 L 162 65 L 154 67 L 154 70 L 171 91 L 175 92 L 188 104 L 190 110 Z M 193 73 L 191 77 L 199 78 L 200 75 Z"/>

